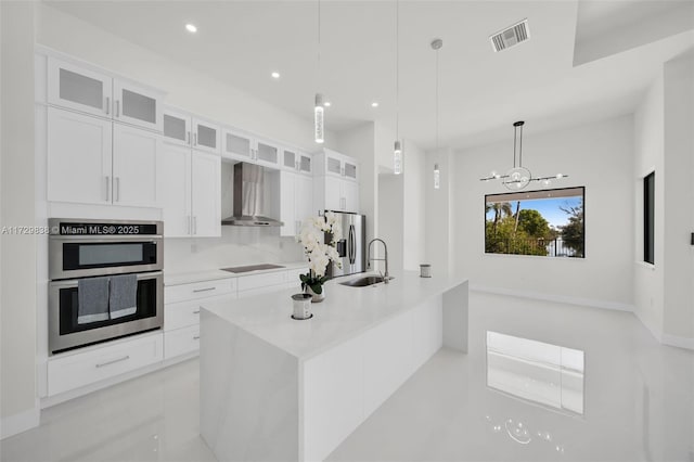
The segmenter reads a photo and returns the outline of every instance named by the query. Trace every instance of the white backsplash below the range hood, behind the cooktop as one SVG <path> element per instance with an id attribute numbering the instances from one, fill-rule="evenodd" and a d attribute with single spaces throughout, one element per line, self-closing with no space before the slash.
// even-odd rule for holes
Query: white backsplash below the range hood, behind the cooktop
<path id="1" fill-rule="evenodd" d="M 279 228 L 221 227 L 221 238 L 164 240 L 167 272 L 205 271 L 227 267 L 305 260 L 294 238 L 280 238 Z"/>

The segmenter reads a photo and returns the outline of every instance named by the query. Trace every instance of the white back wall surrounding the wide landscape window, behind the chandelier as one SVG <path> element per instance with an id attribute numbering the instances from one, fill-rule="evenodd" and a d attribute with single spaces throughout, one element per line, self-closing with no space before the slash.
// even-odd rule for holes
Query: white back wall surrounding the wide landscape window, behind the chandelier
<path id="1" fill-rule="evenodd" d="M 450 203 L 454 271 L 477 287 L 631 309 L 632 117 L 540 134 L 532 133 L 531 127 L 528 124 L 524 133 L 524 165 L 535 175 L 567 174 L 569 178 L 556 182 L 557 188 L 586 187 L 586 258 L 485 254 L 485 194 L 504 192 L 504 188 L 479 178 L 511 166 L 510 139 L 454 155 Z M 542 188 L 528 187 L 535 189 Z M 427 208 L 436 205 L 427 200 Z"/>

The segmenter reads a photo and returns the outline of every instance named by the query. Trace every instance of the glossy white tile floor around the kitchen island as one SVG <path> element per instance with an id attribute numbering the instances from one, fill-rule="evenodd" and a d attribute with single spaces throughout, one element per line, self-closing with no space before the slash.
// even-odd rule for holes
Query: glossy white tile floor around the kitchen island
<path id="1" fill-rule="evenodd" d="M 582 382 L 552 359 L 488 352 L 487 331 L 582 351 Z M 214 461 L 198 437 L 197 369 L 50 408 L 0 459 Z M 630 313 L 471 293 L 470 354 L 440 350 L 329 460 L 693 462 L 694 352 L 658 345 Z"/>

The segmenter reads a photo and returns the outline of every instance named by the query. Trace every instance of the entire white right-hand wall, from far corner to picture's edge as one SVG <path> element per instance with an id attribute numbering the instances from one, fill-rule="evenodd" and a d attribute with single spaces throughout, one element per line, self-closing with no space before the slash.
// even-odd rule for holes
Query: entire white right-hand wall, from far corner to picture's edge
<path id="1" fill-rule="evenodd" d="M 694 57 L 665 63 L 635 113 L 634 305 L 661 342 L 694 348 Z M 655 265 L 643 264 L 643 177 L 655 171 Z"/>

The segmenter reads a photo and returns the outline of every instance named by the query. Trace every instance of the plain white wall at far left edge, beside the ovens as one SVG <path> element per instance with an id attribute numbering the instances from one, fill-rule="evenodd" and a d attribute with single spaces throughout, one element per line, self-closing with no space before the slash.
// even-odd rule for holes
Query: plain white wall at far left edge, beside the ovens
<path id="1" fill-rule="evenodd" d="M 34 2 L 0 2 L 1 214 L 3 227 L 35 224 Z M 2 437 L 38 425 L 36 406 L 36 235 L 2 233 Z"/>

